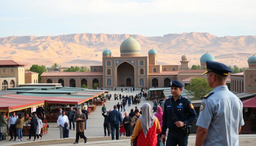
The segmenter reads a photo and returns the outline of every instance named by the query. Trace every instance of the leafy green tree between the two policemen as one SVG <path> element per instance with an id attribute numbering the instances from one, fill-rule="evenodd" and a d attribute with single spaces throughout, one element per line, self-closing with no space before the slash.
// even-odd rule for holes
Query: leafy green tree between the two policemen
<path id="1" fill-rule="evenodd" d="M 190 80 L 190 85 L 186 87 L 187 93 L 191 96 L 191 100 L 200 100 L 209 93 L 212 88 L 208 87 L 206 78 L 195 77 Z"/>

